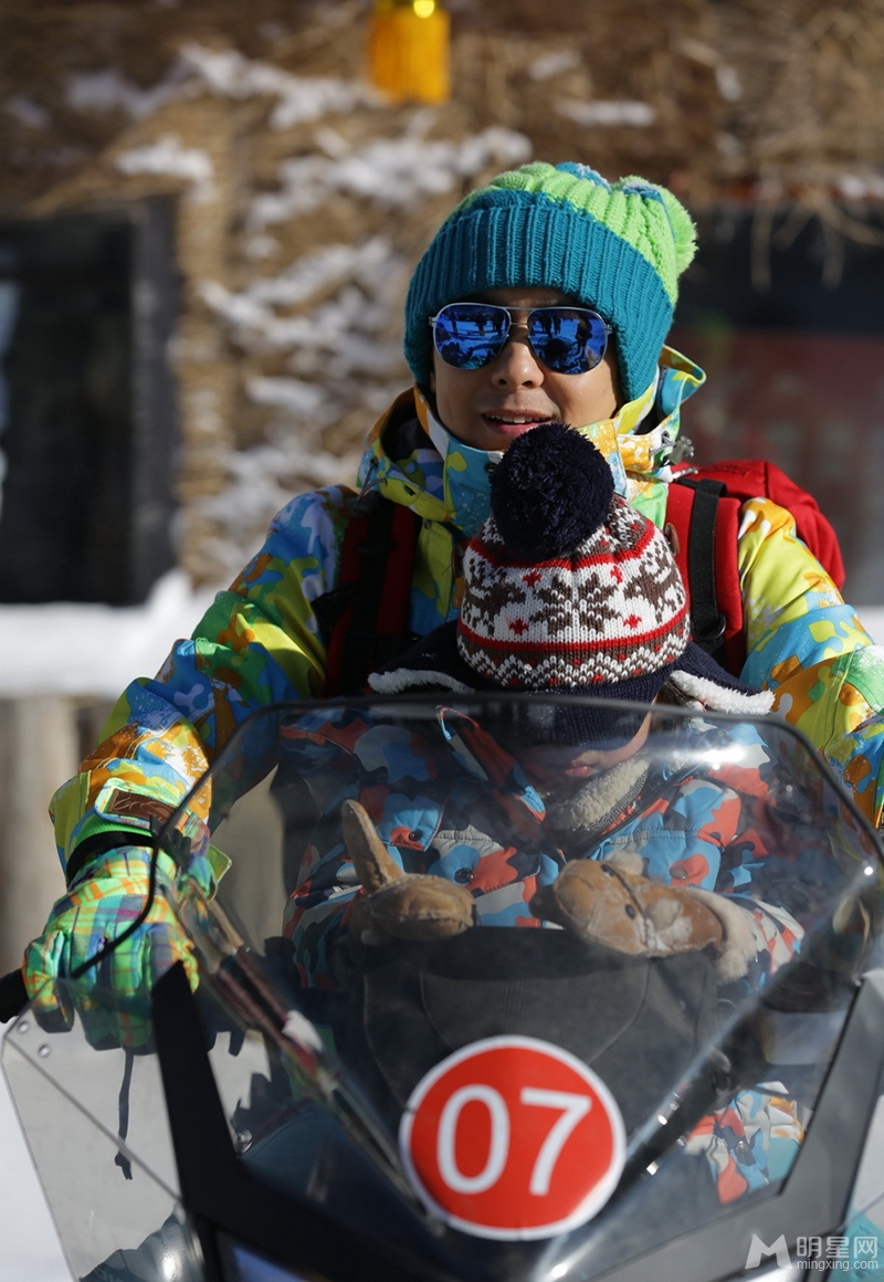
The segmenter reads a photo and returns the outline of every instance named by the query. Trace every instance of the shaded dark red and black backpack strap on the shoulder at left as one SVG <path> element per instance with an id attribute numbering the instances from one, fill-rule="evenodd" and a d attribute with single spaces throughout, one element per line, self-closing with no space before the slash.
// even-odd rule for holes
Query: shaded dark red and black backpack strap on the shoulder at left
<path id="1" fill-rule="evenodd" d="M 327 635 L 325 694 L 361 691 L 374 672 L 409 645 L 411 576 L 420 517 L 375 494 L 343 533 L 338 582 L 314 601 Z"/>

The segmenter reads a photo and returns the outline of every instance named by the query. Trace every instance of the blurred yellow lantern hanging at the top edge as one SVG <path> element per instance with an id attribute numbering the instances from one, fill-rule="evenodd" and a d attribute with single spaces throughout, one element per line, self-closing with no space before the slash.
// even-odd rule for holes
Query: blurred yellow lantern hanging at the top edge
<path id="1" fill-rule="evenodd" d="M 450 19 L 439 0 L 374 0 L 368 74 L 396 103 L 447 101 Z"/>

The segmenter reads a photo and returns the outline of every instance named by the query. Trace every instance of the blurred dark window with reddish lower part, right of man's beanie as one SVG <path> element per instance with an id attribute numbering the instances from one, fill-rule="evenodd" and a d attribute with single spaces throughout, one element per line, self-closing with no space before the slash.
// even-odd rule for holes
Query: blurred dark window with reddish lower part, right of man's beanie
<path id="1" fill-rule="evenodd" d="M 842 544 L 847 599 L 884 601 L 884 213 L 799 206 L 698 219 L 670 342 L 708 383 L 684 410 L 701 462 L 762 456 L 814 494 Z"/>

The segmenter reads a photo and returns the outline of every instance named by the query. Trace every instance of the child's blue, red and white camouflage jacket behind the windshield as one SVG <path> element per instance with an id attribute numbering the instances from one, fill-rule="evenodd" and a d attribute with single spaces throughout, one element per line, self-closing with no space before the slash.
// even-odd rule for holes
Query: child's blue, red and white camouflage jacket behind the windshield
<path id="1" fill-rule="evenodd" d="M 725 892 L 755 919 L 757 986 L 803 935 L 788 908 L 782 862 L 790 856 L 793 872 L 801 851 L 802 868 L 812 863 L 825 885 L 834 873 L 831 851 L 825 837 L 801 828 L 794 801 L 775 803 L 778 767 L 751 726 L 741 733 L 751 740 L 756 764 L 725 762 L 714 770 L 696 762 L 708 760 L 720 732 L 692 726 L 680 735 L 689 763 L 683 769 L 655 763 L 646 747 L 547 806 L 519 763 L 445 703 L 433 738 L 407 722 L 347 706 L 318 708 L 284 724 L 278 785 L 304 779 L 319 812 L 307 847 L 287 851 L 286 860 L 299 867 L 284 933 L 302 979 L 320 987 L 336 982 L 336 949 L 359 894 L 341 832 L 341 804 L 350 799 L 366 809 L 405 872 L 466 886 L 480 926 L 543 924 L 532 915 L 530 899 L 570 859 L 629 858 L 632 870 L 655 881 Z"/>

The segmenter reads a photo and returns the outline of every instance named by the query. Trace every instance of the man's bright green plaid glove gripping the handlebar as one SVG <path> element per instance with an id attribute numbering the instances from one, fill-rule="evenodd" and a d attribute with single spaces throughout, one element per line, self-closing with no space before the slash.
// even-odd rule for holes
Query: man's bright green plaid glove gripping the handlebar
<path id="1" fill-rule="evenodd" d="M 118 938 L 142 912 L 150 885 L 151 851 L 119 846 L 86 864 L 56 901 L 40 938 L 24 951 L 23 977 L 41 1027 L 63 1032 L 79 1014 L 97 1050 L 146 1049 L 150 990 L 176 962 L 196 988 L 196 959 L 172 909 L 174 860 L 158 856 L 154 901 L 145 922 L 119 947 L 70 982 L 72 973 L 101 946 Z M 69 981 L 58 985 L 56 981 Z"/>

